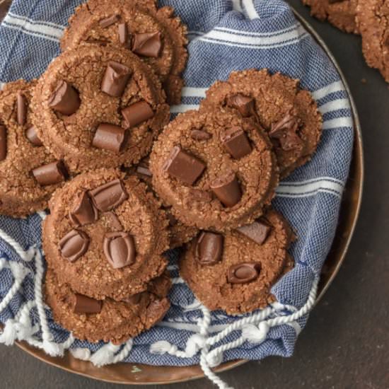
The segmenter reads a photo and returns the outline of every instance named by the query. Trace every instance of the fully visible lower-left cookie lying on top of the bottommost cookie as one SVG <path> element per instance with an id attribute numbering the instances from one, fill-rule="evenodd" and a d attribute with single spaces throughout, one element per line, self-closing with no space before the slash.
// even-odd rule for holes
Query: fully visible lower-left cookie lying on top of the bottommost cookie
<path id="1" fill-rule="evenodd" d="M 42 243 L 59 281 L 89 297 L 121 300 L 144 291 L 165 270 L 167 226 L 144 183 L 101 169 L 54 193 Z"/>

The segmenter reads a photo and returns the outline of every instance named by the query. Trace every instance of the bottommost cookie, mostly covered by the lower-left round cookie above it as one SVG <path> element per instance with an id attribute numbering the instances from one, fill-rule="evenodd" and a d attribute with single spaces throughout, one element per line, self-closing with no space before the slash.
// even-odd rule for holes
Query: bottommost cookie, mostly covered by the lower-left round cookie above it
<path id="1" fill-rule="evenodd" d="M 69 285 L 58 281 L 51 269 L 45 281 L 46 302 L 55 321 L 77 339 L 113 344 L 121 344 L 161 321 L 170 307 L 166 297 L 169 289 L 170 279 L 161 276 L 149 284 L 147 291 L 124 301 L 98 301 L 75 294 Z"/>

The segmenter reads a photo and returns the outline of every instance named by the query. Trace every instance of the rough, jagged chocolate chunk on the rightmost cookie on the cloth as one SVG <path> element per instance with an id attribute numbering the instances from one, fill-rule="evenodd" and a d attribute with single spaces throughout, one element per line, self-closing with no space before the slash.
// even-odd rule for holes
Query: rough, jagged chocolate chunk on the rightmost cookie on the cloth
<path id="1" fill-rule="evenodd" d="M 298 117 L 289 112 L 279 122 L 272 123 L 269 137 L 278 139 L 281 149 L 285 151 L 301 149 L 303 141 L 297 134 L 298 125 Z"/>

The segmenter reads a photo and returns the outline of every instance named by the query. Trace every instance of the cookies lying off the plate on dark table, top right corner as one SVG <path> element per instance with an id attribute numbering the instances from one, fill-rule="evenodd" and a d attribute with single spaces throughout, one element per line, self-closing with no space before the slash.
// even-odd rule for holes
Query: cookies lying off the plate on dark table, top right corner
<path id="1" fill-rule="evenodd" d="M 389 82 L 389 1 L 382 0 L 303 0 L 311 13 L 327 19 L 342 31 L 360 34 L 368 66 L 381 71 Z"/>

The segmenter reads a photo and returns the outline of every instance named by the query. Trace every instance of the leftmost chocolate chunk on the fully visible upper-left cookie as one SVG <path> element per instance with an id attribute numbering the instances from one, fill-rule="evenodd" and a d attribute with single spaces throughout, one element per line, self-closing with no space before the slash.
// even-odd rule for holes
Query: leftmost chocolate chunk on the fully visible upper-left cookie
<path id="1" fill-rule="evenodd" d="M 58 81 L 50 96 L 49 107 L 62 115 L 70 116 L 80 108 L 80 105 L 81 100 L 76 89 L 66 81 Z"/>

